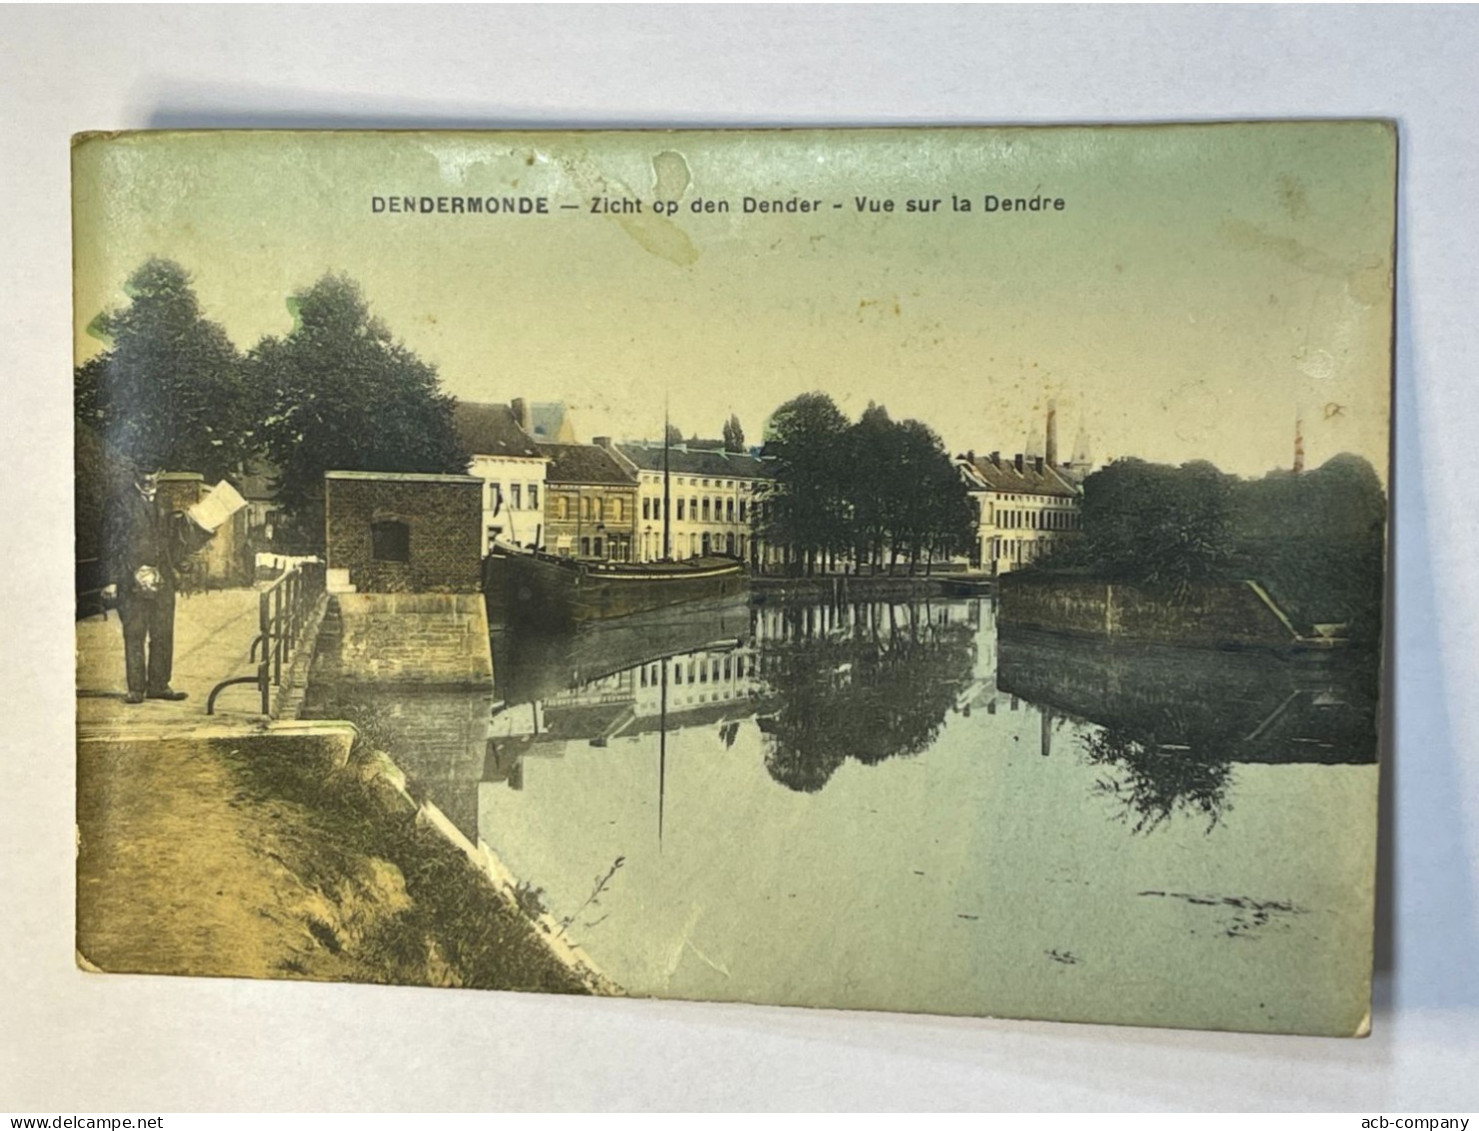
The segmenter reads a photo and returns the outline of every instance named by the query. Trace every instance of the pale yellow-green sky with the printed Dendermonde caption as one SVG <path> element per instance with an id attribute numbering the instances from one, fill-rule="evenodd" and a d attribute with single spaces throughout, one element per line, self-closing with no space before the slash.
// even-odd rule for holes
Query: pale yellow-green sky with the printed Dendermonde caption
<path id="1" fill-rule="evenodd" d="M 77 356 L 149 256 L 241 349 L 345 272 L 448 392 L 563 401 L 583 441 L 660 436 L 666 407 L 701 436 L 734 412 L 754 442 L 821 390 L 1016 452 L 1053 401 L 1063 457 L 1083 426 L 1096 461 L 1262 475 L 1302 417 L 1309 466 L 1350 451 L 1384 480 L 1395 146 L 1370 121 L 99 136 L 72 151 Z"/>

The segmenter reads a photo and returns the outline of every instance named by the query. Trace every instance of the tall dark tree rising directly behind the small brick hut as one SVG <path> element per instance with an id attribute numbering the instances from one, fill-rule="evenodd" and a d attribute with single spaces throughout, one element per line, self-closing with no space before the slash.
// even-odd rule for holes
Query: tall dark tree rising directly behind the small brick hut
<path id="1" fill-rule="evenodd" d="M 467 470 L 454 399 L 436 370 L 370 313 L 359 285 L 325 275 L 288 300 L 296 325 L 248 355 L 269 392 L 263 426 L 290 510 L 321 498 L 324 472 Z"/>

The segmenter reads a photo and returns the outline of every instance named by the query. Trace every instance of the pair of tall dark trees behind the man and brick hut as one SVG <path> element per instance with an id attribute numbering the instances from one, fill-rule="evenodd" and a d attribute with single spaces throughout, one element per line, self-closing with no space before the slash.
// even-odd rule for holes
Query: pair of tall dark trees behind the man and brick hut
<path id="1" fill-rule="evenodd" d="M 126 293 L 127 306 L 89 327 L 106 349 L 75 371 L 80 479 L 235 478 L 265 458 L 280 506 L 302 513 L 330 469 L 467 469 L 435 367 L 392 337 L 348 276 L 291 294 L 293 328 L 246 353 L 204 316 L 177 263 L 148 260 Z"/>

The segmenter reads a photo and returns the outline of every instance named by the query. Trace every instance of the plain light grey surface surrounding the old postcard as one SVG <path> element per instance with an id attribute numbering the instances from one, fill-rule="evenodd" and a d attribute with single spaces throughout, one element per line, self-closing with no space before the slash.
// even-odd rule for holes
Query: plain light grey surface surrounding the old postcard
<path id="1" fill-rule="evenodd" d="M 0 9 L 0 1109 L 1479 1107 L 1476 58 L 1464 7 Z M 1402 129 L 1368 1041 L 74 968 L 71 133 L 1346 115 Z"/>

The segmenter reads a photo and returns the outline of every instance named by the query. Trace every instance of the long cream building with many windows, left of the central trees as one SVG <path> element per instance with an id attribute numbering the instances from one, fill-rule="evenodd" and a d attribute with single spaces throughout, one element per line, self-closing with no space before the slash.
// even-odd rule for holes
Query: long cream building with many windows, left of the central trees
<path id="1" fill-rule="evenodd" d="M 664 547 L 664 451 L 657 441 L 612 445 L 612 452 L 637 476 L 637 560 L 682 560 L 708 554 L 760 560 L 751 546 L 754 498 L 766 466 L 754 455 L 723 451 L 719 442 L 674 444 L 667 448 L 667 538 Z"/>

